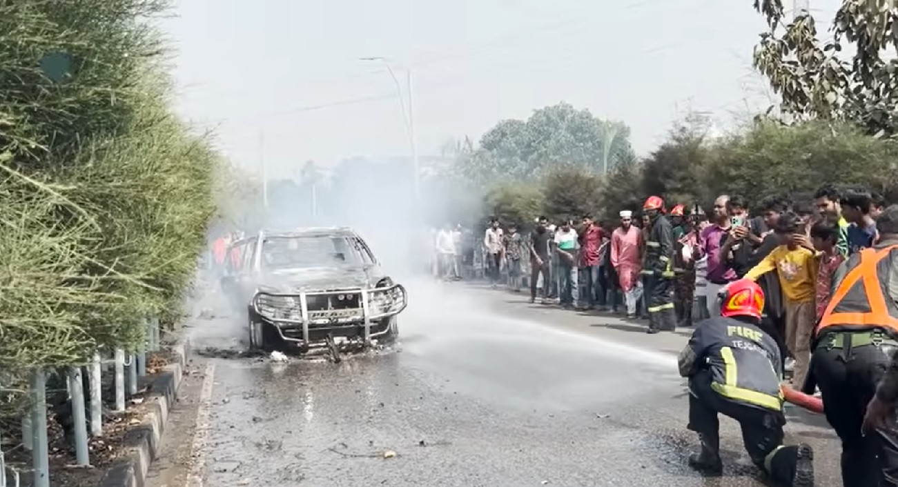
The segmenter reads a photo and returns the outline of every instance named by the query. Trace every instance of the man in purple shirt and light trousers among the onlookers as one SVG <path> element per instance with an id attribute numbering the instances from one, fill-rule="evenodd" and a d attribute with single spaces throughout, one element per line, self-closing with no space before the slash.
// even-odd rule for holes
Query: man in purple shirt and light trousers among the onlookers
<path id="1" fill-rule="evenodd" d="M 729 196 L 718 196 L 714 201 L 714 213 L 711 215 L 711 224 L 701 231 L 697 258 L 708 257 L 708 285 L 705 287 L 708 300 L 708 314 L 711 317 L 720 316 L 718 307 L 718 292 L 728 283 L 736 280 L 735 271 L 729 266 L 726 254 L 720 252 L 732 224 L 726 204 Z"/>

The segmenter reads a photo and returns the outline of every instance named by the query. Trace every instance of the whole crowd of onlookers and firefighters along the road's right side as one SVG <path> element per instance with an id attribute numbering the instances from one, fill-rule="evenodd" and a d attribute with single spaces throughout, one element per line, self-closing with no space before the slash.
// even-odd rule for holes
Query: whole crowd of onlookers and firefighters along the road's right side
<path id="1" fill-rule="evenodd" d="M 447 228 L 454 247 L 436 245 L 433 272 L 482 268 L 493 287 L 529 287 L 531 302 L 647 317 L 652 334 L 701 322 L 679 358 L 702 441 L 696 468 L 721 468 L 723 413 L 742 423 L 756 465 L 814 484 L 810 447 L 782 443 L 791 370 L 788 390 L 821 397 L 841 439 L 843 484 L 898 486 L 898 205 L 825 185 L 804 198 L 721 195 L 709 212 L 667 208 L 651 196 L 641 218 L 622 210 L 614 225 L 540 216 L 525 235 L 492 218 L 482 241 Z"/>

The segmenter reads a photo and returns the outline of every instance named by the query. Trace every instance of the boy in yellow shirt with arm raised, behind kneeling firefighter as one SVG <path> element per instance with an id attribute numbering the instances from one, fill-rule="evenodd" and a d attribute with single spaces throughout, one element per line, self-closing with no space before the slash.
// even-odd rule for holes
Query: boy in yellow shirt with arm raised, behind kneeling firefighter
<path id="1" fill-rule="evenodd" d="M 762 274 L 776 271 L 786 305 L 786 347 L 795 359 L 792 384 L 803 387 L 811 361 L 811 334 L 814 332 L 814 297 L 817 259 L 808 236 L 809 225 L 796 213 L 779 215 L 774 231 L 780 245 L 745 274 L 756 281 Z"/>

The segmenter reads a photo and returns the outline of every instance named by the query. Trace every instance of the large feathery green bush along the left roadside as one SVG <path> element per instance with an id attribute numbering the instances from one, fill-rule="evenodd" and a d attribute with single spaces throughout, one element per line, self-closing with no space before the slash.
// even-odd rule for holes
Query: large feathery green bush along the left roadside
<path id="1" fill-rule="evenodd" d="M 166 6 L 0 4 L 5 383 L 98 346 L 133 349 L 146 316 L 180 314 L 219 160 L 170 109 L 152 23 Z"/>

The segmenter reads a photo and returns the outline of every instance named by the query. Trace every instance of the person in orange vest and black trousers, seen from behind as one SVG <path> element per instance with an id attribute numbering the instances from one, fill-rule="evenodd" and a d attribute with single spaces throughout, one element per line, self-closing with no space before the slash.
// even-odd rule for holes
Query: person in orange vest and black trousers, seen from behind
<path id="1" fill-rule="evenodd" d="M 885 209 L 876 229 L 879 242 L 833 275 L 804 384 L 807 394 L 820 387 L 826 420 L 841 439 L 845 487 L 898 485 L 898 205 Z"/>

